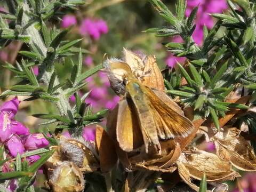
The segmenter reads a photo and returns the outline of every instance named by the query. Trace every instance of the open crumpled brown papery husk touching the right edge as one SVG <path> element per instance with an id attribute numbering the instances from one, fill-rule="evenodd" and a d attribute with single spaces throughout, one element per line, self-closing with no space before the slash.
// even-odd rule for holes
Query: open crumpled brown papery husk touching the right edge
<path id="1" fill-rule="evenodd" d="M 256 171 L 256 155 L 249 141 L 246 141 L 241 131 L 225 127 L 214 135 L 213 141 L 217 155 L 230 161 L 233 166 L 243 171 Z"/>

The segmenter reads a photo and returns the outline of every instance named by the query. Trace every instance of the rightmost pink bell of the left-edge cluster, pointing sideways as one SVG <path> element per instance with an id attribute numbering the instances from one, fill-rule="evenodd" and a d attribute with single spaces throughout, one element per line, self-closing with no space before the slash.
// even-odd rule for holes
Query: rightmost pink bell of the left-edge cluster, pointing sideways
<path id="1" fill-rule="evenodd" d="M 42 133 L 30 134 L 24 141 L 24 146 L 27 150 L 39 149 L 47 145 L 49 145 L 49 141 L 45 139 Z"/>

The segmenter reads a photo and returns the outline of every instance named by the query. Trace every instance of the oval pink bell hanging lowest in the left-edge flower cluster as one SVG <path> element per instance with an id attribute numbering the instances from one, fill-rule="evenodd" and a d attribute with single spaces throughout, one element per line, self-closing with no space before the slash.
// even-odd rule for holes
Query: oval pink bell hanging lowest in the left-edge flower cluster
<path id="1" fill-rule="evenodd" d="M 13 134 L 12 137 L 6 142 L 6 146 L 13 157 L 16 157 L 18 153 L 23 154 L 25 151 L 21 139 L 16 134 Z"/>

